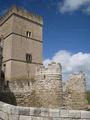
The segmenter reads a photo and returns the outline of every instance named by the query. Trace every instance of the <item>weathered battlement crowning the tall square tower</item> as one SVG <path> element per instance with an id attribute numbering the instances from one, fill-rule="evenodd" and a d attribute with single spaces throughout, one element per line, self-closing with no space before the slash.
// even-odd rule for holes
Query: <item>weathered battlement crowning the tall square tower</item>
<path id="1" fill-rule="evenodd" d="M 43 20 L 41 16 L 35 15 L 22 8 L 18 8 L 15 5 L 12 6 L 11 9 L 9 9 L 4 16 L 0 17 L 0 25 L 2 25 L 13 14 L 19 17 L 23 17 L 27 20 L 31 20 L 32 22 L 35 22 L 39 25 L 43 25 Z"/>

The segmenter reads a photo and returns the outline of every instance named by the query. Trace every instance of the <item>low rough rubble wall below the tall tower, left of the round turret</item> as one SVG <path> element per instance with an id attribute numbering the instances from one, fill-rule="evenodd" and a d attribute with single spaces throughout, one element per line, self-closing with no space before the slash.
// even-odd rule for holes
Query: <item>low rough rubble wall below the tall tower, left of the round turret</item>
<path id="1" fill-rule="evenodd" d="M 33 81 L 5 81 L 0 87 L 0 101 L 20 106 L 32 106 Z M 32 100 L 31 100 L 32 99 Z"/>

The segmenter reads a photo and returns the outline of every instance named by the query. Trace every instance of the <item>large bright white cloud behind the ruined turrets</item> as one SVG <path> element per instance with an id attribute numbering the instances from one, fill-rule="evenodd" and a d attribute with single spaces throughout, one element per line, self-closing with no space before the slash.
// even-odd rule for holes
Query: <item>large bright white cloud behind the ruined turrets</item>
<path id="1" fill-rule="evenodd" d="M 47 66 L 52 61 L 61 63 L 64 78 L 72 73 L 85 72 L 90 85 L 90 53 L 72 54 L 66 50 L 60 50 L 51 59 L 44 60 L 44 65 Z"/>

